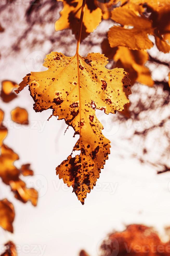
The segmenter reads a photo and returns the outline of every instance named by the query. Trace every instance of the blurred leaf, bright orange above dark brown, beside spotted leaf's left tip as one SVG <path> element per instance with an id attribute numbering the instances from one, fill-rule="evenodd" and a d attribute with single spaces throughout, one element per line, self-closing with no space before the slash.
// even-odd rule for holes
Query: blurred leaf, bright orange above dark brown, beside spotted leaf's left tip
<path id="1" fill-rule="evenodd" d="M 2 89 L 1 89 L 1 98 L 4 102 L 10 102 L 14 100 L 17 95 L 12 92 L 13 89 L 18 88 L 18 85 L 15 82 L 4 80 L 2 82 Z"/>

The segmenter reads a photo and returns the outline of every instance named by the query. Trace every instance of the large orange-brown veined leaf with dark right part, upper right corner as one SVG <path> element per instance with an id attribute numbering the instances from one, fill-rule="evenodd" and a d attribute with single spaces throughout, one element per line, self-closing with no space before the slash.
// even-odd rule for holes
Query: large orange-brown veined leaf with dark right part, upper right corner
<path id="1" fill-rule="evenodd" d="M 111 18 L 122 26 L 113 26 L 108 32 L 111 47 L 126 46 L 132 50 L 150 49 L 153 43 L 148 35 L 155 37 L 158 49 L 164 53 L 170 51 L 170 8 L 157 8 L 156 11 L 148 7 L 151 12 L 149 18 L 141 13 L 139 5 L 129 4 L 112 11 Z M 140 14 L 140 15 L 139 15 Z"/>

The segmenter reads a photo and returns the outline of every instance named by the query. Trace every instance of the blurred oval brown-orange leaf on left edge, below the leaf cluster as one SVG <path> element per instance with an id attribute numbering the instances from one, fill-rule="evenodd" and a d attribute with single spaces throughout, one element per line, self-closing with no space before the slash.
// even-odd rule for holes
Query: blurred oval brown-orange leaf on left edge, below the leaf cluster
<path id="1" fill-rule="evenodd" d="M 0 201 L 0 226 L 9 231 L 13 232 L 12 223 L 15 218 L 14 206 L 7 199 Z"/>

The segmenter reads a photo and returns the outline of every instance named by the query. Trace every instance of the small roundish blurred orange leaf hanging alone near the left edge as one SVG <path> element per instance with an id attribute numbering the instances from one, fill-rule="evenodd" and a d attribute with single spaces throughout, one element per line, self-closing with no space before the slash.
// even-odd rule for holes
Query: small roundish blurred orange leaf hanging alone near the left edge
<path id="1" fill-rule="evenodd" d="M 17 124 L 28 125 L 28 112 L 24 108 L 15 108 L 11 111 L 11 119 Z"/>

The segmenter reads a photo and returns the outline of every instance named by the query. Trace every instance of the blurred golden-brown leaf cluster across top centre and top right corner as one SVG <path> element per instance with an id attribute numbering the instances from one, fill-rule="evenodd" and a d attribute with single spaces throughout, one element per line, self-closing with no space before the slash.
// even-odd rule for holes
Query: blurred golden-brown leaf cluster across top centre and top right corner
<path id="1" fill-rule="evenodd" d="M 60 0 L 57 0 L 60 1 Z M 56 21 L 55 29 L 70 28 L 77 35 L 81 0 L 63 0 L 61 18 Z M 98 16 L 96 15 L 98 13 Z M 100 13 L 100 15 L 99 15 Z M 117 62 L 116 67 L 124 68 L 129 73 L 131 85 L 136 81 L 153 86 L 149 69 L 145 63 L 149 60 L 147 49 L 153 42 L 164 53 L 170 51 L 170 7 L 166 1 L 87 1 L 83 21 L 82 39 L 93 32 L 102 19 L 111 18 L 117 25 L 108 31 L 102 49 L 105 56 Z M 93 18 L 95 16 L 95 18 Z M 91 22 L 93 21 L 93 22 Z M 96 23 L 95 23 L 96 22 Z"/>

